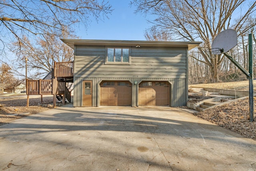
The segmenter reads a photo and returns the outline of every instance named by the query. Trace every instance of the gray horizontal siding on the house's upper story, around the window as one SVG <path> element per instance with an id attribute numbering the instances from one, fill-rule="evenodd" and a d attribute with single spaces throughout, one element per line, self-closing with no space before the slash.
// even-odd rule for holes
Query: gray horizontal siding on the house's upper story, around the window
<path id="1" fill-rule="evenodd" d="M 105 47 L 76 46 L 76 77 L 186 78 L 186 49 L 132 48 L 131 65 L 105 64 Z"/>

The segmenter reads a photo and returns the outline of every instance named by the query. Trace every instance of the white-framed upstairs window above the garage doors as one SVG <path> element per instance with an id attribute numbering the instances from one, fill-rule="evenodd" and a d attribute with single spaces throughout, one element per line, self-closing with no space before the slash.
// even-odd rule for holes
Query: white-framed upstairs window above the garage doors
<path id="1" fill-rule="evenodd" d="M 129 48 L 107 48 L 106 64 L 130 64 Z"/>

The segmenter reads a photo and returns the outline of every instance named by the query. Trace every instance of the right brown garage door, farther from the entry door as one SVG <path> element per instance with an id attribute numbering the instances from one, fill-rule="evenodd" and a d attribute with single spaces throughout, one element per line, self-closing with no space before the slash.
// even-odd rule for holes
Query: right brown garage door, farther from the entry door
<path id="1" fill-rule="evenodd" d="M 139 105 L 169 105 L 169 84 L 167 82 L 141 82 L 139 84 Z"/>

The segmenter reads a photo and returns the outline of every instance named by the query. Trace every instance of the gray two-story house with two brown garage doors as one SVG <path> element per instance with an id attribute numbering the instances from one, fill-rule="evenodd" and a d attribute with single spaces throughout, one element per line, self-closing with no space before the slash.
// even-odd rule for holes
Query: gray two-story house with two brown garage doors
<path id="1" fill-rule="evenodd" d="M 62 41 L 74 49 L 74 107 L 186 105 L 188 50 L 201 42 Z"/>

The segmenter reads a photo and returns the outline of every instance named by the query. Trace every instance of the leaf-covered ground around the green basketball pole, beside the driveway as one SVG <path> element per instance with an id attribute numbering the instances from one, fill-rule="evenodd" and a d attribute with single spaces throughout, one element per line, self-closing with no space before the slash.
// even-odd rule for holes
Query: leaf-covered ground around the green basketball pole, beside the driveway
<path id="1" fill-rule="evenodd" d="M 256 140 L 256 122 L 249 121 L 249 98 L 194 113 L 197 117 Z M 254 97 L 256 120 L 256 97 Z"/>

